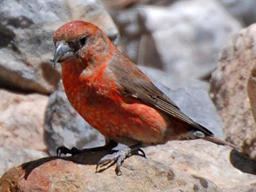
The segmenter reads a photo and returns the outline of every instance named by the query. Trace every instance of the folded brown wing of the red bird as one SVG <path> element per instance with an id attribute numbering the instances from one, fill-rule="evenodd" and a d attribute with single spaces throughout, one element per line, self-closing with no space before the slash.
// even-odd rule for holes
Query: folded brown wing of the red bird
<path id="1" fill-rule="evenodd" d="M 120 63 L 120 61 L 123 61 Z M 213 135 L 208 129 L 194 122 L 187 115 L 182 113 L 178 106 L 159 90 L 151 80 L 138 67 L 127 59 L 122 53 L 114 55 L 108 64 L 109 69 L 117 78 L 117 84 L 129 96 L 150 104 L 176 119 L 186 122 L 200 131 Z"/>

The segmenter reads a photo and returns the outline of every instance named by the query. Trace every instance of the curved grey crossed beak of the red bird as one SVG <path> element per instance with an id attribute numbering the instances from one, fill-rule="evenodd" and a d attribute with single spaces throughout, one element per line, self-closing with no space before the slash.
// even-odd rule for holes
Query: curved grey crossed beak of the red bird
<path id="1" fill-rule="evenodd" d="M 58 63 L 58 61 L 60 60 L 60 58 L 62 58 L 66 53 L 71 53 L 66 55 L 67 57 L 65 57 L 65 59 L 67 59 L 68 57 L 72 57 L 74 56 L 74 50 L 72 48 L 69 47 L 68 44 L 66 44 L 65 41 L 59 41 L 56 44 L 56 50 L 54 53 L 54 58 L 53 58 L 53 66 L 56 66 L 56 63 Z"/>

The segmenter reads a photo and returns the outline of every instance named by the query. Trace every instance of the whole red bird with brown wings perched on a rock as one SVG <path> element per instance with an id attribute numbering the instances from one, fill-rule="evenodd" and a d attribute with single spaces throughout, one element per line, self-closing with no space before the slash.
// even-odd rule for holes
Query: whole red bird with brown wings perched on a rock
<path id="1" fill-rule="evenodd" d="M 102 157 L 96 171 L 98 166 L 115 161 L 121 174 L 121 163 L 126 157 L 139 152 L 145 156 L 142 147 L 170 140 L 204 139 L 241 151 L 182 113 L 94 24 L 65 23 L 54 33 L 53 42 L 53 63 L 62 67 L 65 94 L 71 106 L 106 140 L 104 146 L 88 150 L 126 145 Z M 57 154 L 78 151 L 60 146 Z"/>

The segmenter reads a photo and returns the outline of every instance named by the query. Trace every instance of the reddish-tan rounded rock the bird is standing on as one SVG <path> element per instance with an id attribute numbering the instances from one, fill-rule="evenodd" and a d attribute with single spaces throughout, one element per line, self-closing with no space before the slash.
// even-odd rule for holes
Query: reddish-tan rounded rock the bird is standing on
<path id="1" fill-rule="evenodd" d="M 95 165 L 86 159 L 80 154 L 23 164 L 3 175 L 1 191 L 222 191 L 208 179 L 143 157 L 126 159 L 121 176 L 115 175 L 114 166 L 95 173 Z"/>

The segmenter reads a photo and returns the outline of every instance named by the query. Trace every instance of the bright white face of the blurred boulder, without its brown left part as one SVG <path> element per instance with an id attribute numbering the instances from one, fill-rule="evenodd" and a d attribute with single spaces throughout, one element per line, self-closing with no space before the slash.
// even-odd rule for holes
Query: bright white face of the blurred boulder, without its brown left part
<path id="1" fill-rule="evenodd" d="M 148 41 L 156 45 L 163 69 L 179 77 L 199 78 L 211 73 L 225 42 L 241 29 L 240 23 L 215 1 L 142 7 L 139 17 Z M 144 57 L 151 54 L 145 52 Z"/>

